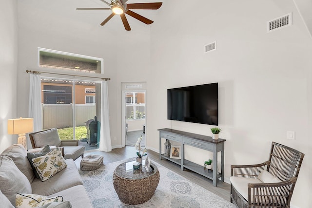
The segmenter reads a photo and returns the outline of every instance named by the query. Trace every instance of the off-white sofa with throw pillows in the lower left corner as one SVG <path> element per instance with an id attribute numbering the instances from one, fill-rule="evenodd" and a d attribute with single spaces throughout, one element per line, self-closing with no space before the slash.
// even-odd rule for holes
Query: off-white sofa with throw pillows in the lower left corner
<path id="1" fill-rule="evenodd" d="M 73 208 L 92 208 L 74 160 L 66 159 L 65 162 L 66 168 L 42 182 L 35 177 L 22 145 L 15 144 L 4 150 L 0 154 L 0 207 L 15 207 L 17 193 L 33 193 L 62 196 Z"/>

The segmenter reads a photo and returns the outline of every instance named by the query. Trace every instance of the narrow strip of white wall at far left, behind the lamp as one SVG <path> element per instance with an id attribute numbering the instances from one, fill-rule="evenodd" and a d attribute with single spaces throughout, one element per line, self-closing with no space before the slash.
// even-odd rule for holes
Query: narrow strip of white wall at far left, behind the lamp
<path id="1" fill-rule="evenodd" d="M 17 143 L 17 135 L 8 135 L 7 120 L 17 118 L 17 0 L 0 1 L 0 152 Z"/>

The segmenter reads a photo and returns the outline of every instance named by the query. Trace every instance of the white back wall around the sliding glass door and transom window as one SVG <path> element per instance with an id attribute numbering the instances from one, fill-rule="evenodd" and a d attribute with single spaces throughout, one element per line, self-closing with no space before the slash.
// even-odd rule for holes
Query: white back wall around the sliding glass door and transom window
<path id="1" fill-rule="evenodd" d="M 120 83 L 146 81 L 150 63 L 150 26 L 128 18 L 132 31 L 125 31 L 118 16 L 100 26 L 110 11 L 77 11 L 77 7 L 105 7 L 105 4 L 98 0 L 18 2 L 18 113 L 28 111 L 28 105 L 21 103 L 22 100 L 28 102 L 29 74 L 25 70 L 37 67 L 38 47 L 100 57 L 104 59 L 105 77 L 111 78 L 108 82 L 111 137 L 117 138 L 112 139 L 112 146 L 120 146 Z"/>

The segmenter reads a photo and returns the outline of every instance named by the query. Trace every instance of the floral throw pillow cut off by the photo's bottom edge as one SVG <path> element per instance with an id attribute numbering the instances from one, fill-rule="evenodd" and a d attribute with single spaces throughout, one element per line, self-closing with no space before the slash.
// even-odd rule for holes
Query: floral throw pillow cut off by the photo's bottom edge
<path id="1" fill-rule="evenodd" d="M 17 193 L 15 199 L 16 208 L 37 208 L 51 202 L 62 202 L 63 197 L 56 196 L 48 198 L 36 194 Z"/>

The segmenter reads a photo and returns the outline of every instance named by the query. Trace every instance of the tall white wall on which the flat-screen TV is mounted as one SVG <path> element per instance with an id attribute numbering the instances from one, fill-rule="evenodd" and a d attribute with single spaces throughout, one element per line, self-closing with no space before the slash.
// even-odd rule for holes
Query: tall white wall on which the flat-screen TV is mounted
<path id="1" fill-rule="evenodd" d="M 267 33 L 267 20 L 289 12 L 292 26 Z M 204 54 L 215 40 L 217 50 Z M 211 135 L 209 125 L 167 120 L 166 90 L 218 82 L 226 181 L 231 164 L 264 162 L 271 142 L 282 143 L 306 154 L 291 204 L 308 208 L 311 54 L 312 39 L 292 0 L 165 1 L 151 29 L 147 145 L 158 150 L 160 128 Z M 296 140 L 288 140 L 287 131 L 295 131 Z M 210 157 L 189 154 L 201 164 Z"/>

